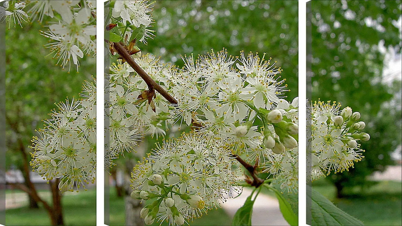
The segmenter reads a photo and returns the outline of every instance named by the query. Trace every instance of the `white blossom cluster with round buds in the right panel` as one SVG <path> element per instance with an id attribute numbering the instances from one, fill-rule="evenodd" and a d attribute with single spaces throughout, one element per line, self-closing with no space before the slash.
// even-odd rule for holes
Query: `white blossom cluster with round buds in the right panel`
<path id="1" fill-rule="evenodd" d="M 318 101 L 308 107 L 311 114 L 307 126 L 307 160 L 311 167 L 311 178 L 316 180 L 331 171 L 343 172 L 360 161 L 364 150 L 360 141 L 370 139 L 361 132 L 366 126 L 359 112 L 349 107 L 340 110 L 336 102 Z"/>

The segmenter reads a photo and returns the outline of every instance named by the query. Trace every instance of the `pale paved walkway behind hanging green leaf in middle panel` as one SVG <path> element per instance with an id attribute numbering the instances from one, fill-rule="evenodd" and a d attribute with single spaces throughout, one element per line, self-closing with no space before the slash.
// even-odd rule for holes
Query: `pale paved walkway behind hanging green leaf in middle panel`
<path id="1" fill-rule="evenodd" d="M 222 208 L 233 217 L 236 211 L 243 206 L 247 197 L 251 194 L 252 189 L 244 188 L 243 193 L 235 199 L 228 199 L 222 204 Z M 252 225 L 289 225 L 283 218 L 279 210 L 279 202 L 276 198 L 263 193 L 258 194 L 253 206 Z"/>

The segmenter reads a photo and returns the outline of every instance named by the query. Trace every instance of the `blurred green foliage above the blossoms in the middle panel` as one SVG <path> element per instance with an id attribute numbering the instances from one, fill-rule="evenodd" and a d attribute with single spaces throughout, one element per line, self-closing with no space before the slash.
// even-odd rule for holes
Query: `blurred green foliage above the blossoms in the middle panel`
<path id="1" fill-rule="evenodd" d="M 180 55 L 204 55 L 211 49 L 228 54 L 258 52 L 272 57 L 287 79 L 289 100 L 297 94 L 297 1 L 156 1 L 154 40 L 143 53 L 179 67 Z"/>

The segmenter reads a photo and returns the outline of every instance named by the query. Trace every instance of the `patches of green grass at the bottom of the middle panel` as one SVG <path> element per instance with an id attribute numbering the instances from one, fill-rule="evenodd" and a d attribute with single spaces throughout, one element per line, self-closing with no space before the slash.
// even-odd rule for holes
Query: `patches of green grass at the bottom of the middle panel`
<path id="1" fill-rule="evenodd" d="M 125 225 L 124 214 L 124 200 L 117 197 L 115 189 L 110 191 L 110 225 L 118 226 Z M 203 215 L 201 218 L 194 219 L 193 222 L 189 222 L 190 225 L 232 225 L 232 218 L 226 214 L 226 212 L 220 208 L 217 210 L 209 210 L 207 215 Z M 160 222 L 154 222 L 154 226 L 159 225 Z M 162 225 L 168 225 L 163 222 Z"/>

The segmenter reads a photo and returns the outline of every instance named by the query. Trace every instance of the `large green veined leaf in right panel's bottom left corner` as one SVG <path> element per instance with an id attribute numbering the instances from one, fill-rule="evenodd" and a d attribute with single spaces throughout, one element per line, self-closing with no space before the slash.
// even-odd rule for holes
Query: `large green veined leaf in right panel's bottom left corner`
<path id="1" fill-rule="evenodd" d="M 307 197 L 311 198 L 311 225 L 364 225 L 360 220 L 337 208 L 318 191 L 307 186 Z M 308 222 L 309 223 L 309 222 Z"/>

